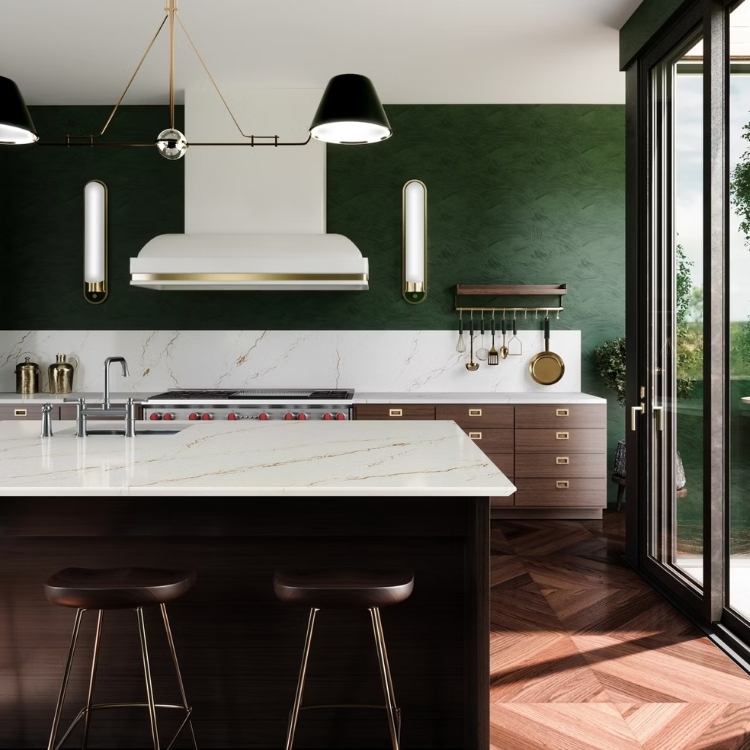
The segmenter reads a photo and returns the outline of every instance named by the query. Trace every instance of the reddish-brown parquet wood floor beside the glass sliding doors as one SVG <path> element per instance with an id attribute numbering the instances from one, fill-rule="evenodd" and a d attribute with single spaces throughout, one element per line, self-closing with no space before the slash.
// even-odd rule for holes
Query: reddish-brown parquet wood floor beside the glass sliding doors
<path id="1" fill-rule="evenodd" d="M 493 750 L 750 750 L 750 676 L 625 565 L 622 513 L 491 548 Z"/>

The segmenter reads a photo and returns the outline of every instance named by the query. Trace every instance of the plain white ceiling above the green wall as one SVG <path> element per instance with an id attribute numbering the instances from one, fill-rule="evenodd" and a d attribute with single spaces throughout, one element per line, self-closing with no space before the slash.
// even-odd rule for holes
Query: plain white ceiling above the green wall
<path id="1" fill-rule="evenodd" d="M 641 0 L 180 0 L 221 87 L 370 76 L 387 104 L 622 103 L 618 29 Z M 1 0 L 0 75 L 28 104 L 111 104 L 165 0 Z M 167 36 L 128 104 L 167 101 Z M 177 89 L 208 79 L 177 29 Z"/>

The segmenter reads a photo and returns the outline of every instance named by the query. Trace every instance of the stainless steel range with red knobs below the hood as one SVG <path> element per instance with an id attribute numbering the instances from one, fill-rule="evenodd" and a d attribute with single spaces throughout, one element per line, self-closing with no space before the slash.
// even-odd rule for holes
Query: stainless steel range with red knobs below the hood
<path id="1" fill-rule="evenodd" d="M 347 389 L 251 389 L 167 391 L 146 399 L 144 419 L 323 419 L 351 418 L 354 391 Z"/>

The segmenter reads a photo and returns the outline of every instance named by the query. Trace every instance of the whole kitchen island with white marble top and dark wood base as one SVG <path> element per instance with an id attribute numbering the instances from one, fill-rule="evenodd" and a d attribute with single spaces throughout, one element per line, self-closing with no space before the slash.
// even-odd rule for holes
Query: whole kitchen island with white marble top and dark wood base
<path id="1" fill-rule="evenodd" d="M 414 570 L 412 597 L 383 614 L 403 746 L 489 747 L 489 497 L 515 488 L 455 424 L 54 431 L 0 424 L 0 746 L 46 745 L 72 613 L 44 601 L 43 581 L 68 566 L 137 564 L 198 571 L 171 609 L 201 748 L 283 745 L 306 614 L 276 601 L 271 577 L 341 566 Z M 130 620 L 105 629 L 102 701 L 141 699 Z M 382 702 L 367 619 L 325 611 L 316 631 L 305 703 Z M 174 689 L 167 660 L 155 649 L 157 699 Z M 138 718 L 97 716 L 92 745 L 148 746 Z M 379 711 L 331 708 L 303 712 L 297 741 L 387 747 L 388 731 Z"/>

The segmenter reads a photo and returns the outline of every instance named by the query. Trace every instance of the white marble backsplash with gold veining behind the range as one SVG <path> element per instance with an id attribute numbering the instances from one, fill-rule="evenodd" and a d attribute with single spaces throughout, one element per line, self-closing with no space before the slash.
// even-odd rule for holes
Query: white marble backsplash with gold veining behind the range
<path id="1" fill-rule="evenodd" d="M 552 331 L 550 348 L 565 361 L 559 383 L 543 386 L 529 374 L 529 361 L 543 350 L 542 331 L 519 331 L 522 356 L 496 367 L 464 366 L 456 331 L 3 331 L 0 332 L 0 391 L 14 391 L 15 366 L 30 356 L 42 368 L 56 354 L 80 361 L 73 388 L 102 388 L 105 357 L 125 357 L 130 377 L 112 368 L 112 389 L 174 388 L 355 388 L 377 392 L 580 391 L 581 332 Z M 475 348 L 480 346 L 476 337 Z M 499 349 L 501 337 L 496 337 Z M 490 348 L 490 336 L 485 337 Z M 476 360 L 479 361 L 479 360 Z"/>

